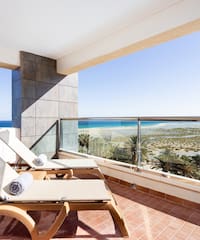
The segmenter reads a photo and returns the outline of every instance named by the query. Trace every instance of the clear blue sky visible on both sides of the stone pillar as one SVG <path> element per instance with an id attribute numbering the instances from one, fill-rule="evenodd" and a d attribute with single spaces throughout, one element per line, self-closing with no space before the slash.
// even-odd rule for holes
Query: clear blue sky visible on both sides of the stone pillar
<path id="1" fill-rule="evenodd" d="M 200 33 L 79 72 L 79 117 L 199 116 Z M 11 119 L 11 72 L 0 69 L 0 120 Z"/>

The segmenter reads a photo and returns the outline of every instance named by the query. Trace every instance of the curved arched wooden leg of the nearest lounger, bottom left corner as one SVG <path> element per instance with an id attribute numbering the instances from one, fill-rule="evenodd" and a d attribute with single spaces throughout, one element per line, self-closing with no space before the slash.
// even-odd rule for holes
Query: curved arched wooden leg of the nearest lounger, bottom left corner
<path id="1" fill-rule="evenodd" d="M 12 205 L 1 205 L 0 215 L 16 218 L 18 221 L 23 223 L 25 227 L 28 229 L 32 240 L 38 239 L 38 231 L 35 221 L 32 219 L 30 215 L 27 214 L 25 210 L 22 210 Z"/>

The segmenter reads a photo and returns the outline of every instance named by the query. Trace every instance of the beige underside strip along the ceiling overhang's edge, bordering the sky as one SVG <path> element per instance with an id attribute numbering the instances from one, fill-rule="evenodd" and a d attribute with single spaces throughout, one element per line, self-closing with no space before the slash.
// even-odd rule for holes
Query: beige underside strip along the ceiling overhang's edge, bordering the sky
<path id="1" fill-rule="evenodd" d="M 105 52 L 104 54 L 97 54 L 96 56 L 91 56 L 91 58 L 82 59 L 77 62 L 76 57 L 83 56 L 84 54 L 75 54 L 71 56 L 64 56 L 57 60 L 57 71 L 62 74 L 69 74 L 73 72 L 78 72 L 85 68 L 104 63 L 109 60 L 113 60 L 130 53 L 134 53 L 139 50 L 143 50 L 145 48 L 153 47 L 155 45 L 170 41 L 172 39 L 184 36 L 186 34 L 190 34 L 200 30 L 200 19 L 186 23 L 179 27 L 170 29 L 166 32 L 159 33 L 157 35 L 153 35 L 152 37 L 145 38 L 142 40 L 138 40 L 128 46 L 122 46 L 121 48 L 111 51 Z M 76 61 L 73 62 L 73 58 Z"/>

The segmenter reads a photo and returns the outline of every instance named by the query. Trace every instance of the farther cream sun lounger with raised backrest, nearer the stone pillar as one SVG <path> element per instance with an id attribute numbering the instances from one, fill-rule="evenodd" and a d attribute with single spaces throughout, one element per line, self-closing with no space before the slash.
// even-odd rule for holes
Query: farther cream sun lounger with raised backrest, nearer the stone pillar
<path id="1" fill-rule="evenodd" d="M 45 170 L 50 174 L 68 173 L 68 177 L 71 177 L 73 171 L 76 171 L 78 173 L 93 173 L 98 175 L 99 178 L 104 178 L 93 159 L 48 159 L 44 165 L 37 166 L 34 160 L 38 156 L 17 137 L 11 136 L 8 130 L 0 131 L 0 139 L 34 170 Z"/>

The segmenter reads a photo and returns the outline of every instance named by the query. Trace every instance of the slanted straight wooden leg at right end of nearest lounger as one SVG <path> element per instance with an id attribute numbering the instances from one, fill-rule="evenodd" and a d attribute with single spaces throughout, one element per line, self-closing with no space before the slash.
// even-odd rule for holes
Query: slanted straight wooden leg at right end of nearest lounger
<path id="1" fill-rule="evenodd" d="M 128 237 L 129 236 L 128 228 L 127 228 L 127 226 L 123 220 L 123 217 L 121 216 L 117 206 L 115 205 L 114 200 L 111 201 L 110 203 L 108 203 L 108 209 L 111 213 L 111 216 L 112 216 L 115 224 L 119 227 L 122 236 Z"/>

